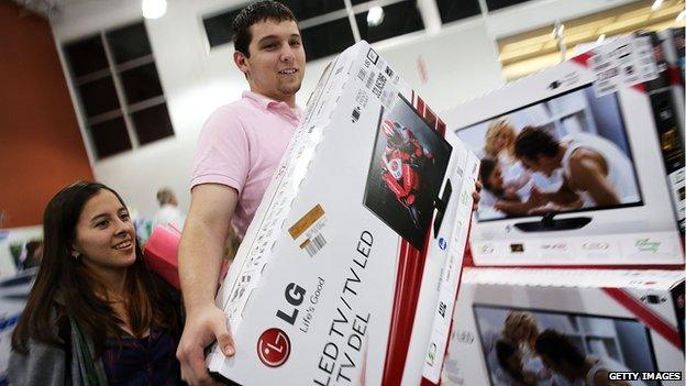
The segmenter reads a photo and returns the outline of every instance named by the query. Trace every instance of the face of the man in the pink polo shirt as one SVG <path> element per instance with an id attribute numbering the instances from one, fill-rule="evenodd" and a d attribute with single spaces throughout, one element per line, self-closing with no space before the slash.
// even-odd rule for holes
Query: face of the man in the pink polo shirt
<path id="1" fill-rule="evenodd" d="M 247 76 L 251 90 L 294 106 L 305 76 L 298 24 L 266 20 L 251 25 L 250 31 L 250 57 L 236 52 L 234 60 Z"/>

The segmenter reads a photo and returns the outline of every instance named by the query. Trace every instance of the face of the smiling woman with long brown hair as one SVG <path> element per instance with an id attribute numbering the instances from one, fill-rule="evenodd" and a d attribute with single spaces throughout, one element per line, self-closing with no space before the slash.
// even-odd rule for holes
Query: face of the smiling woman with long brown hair
<path id="1" fill-rule="evenodd" d="M 124 268 L 135 262 L 135 230 L 117 196 L 102 189 L 84 207 L 74 250 L 95 271 Z"/>

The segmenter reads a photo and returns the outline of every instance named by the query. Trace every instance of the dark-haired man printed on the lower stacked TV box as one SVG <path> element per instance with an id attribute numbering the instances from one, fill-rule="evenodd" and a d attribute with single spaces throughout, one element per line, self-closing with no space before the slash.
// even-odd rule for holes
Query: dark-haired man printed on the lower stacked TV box
<path id="1" fill-rule="evenodd" d="M 550 370 L 567 378 L 571 385 L 645 386 L 641 381 L 610 381 L 609 372 L 631 370 L 610 357 L 584 355 L 565 335 L 552 329 L 539 335 L 535 351 Z"/>

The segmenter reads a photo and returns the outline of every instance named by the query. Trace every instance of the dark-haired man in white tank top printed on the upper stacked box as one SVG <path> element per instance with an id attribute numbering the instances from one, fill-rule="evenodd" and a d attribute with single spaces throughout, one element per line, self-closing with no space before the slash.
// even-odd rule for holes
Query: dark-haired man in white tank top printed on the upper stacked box
<path id="1" fill-rule="evenodd" d="M 584 207 L 606 207 L 639 200 L 631 161 L 602 137 L 577 133 L 556 140 L 543 128 L 527 126 L 514 140 L 514 155 L 547 176 L 562 168 L 564 183 L 557 191 L 532 191 L 543 201 L 569 206 L 580 196 Z"/>

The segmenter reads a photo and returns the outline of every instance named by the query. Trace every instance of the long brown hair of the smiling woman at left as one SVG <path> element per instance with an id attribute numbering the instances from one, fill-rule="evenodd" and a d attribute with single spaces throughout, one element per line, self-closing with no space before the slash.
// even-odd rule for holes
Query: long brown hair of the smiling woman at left
<path id="1" fill-rule="evenodd" d="M 106 294 L 102 284 L 70 253 L 84 207 L 101 190 L 111 191 L 124 205 L 109 187 L 78 181 L 62 189 L 45 208 L 43 261 L 12 334 L 12 348 L 16 352 L 27 353 L 30 339 L 60 344 L 56 323 L 65 322 L 63 318 L 68 317 L 93 339 L 97 355 L 102 353 L 107 337 L 123 334 L 122 320 L 110 301 L 102 298 L 101 294 Z M 178 332 L 180 326 L 174 297 L 147 269 L 137 242 L 135 253 L 136 260 L 126 269 L 125 279 L 126 311 L 134 335 L 141 338 L 151 327 Z"/>

